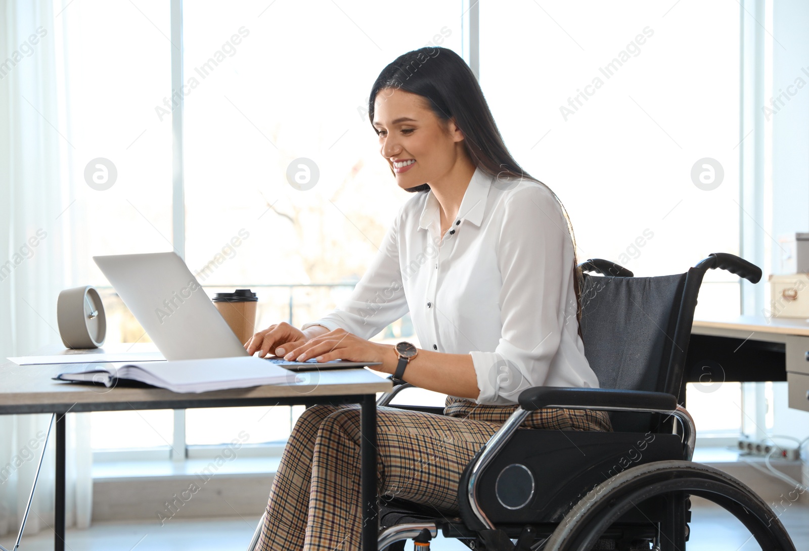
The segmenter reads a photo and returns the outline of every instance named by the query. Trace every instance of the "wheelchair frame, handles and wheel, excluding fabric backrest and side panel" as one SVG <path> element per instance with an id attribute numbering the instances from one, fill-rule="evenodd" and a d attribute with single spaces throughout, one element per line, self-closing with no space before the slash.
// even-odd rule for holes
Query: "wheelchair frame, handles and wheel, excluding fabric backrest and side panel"
<path id="1" fill-rule="evenodd" d="M 602 259 L 589 259 L 579 264 L 584 271 L 601 273 L 616 278 L 631 278 L 633 273 L 620 265 Z M 379 532 L 378 549 L 404 549 L 404 540 L 413 539 L 429 542 L 442 529 L 443 535 L 463 540 L 470 549 L 486 551 L 578 551 L 592 549 L 597 545 L 599 537 L 608 530 L 616 519 L 628 511 L 635 502 L 670 495 L 666 499 L 666 519 L 659 523 L 657 536 L 660 551 L 685 549 L 688 539 L 688 503 L 686 495 L 700 495 L 717 502 L 727 511 L 734 514 L 752 532 L 765 549 L 785 549 L 794 551 L 786 529 L 781 524 L 766 502 L 757 496 L 742 482 L 706 465 L 693 463 L 696 443 L 696 426 L 688 411 L 678 405 L 678 397 L 684 395 L 684 362 L 688 351 L 693 312 L 697 305 L 697 295 L 702 278 L 708 269 L 726 269 L 736 273 L 750 282 L 760 281 L 761 270 L 739 256 L 728 253 L 711 253 L 693 268 L 688 269 L 684 288 L 677 312 L 675 345 L 671 348 L 667 375 L 663 388 L 667 392 L 643 392 L 634 390 L 608 388 L 528 388 L 519 396 L 519 407 L 502 424 L 477 455 L 472 458 L 459 485 L 459 505 L 461 518 L 441 522 L 429 520 L 424 522 L 398 523 Z M 412 384 L 397 385 L 381 396 L 378 406 L 387 406 L 392 399 Z M 440 407 L 390 406 L 443 413 Z M 659 460 L 638 464 L 627 468 L 616 476 L 595 485 L 590 492 L 566 511 L 564 522 L 556 524 L 553 533 L 540 542 L 536 529 L 524 524 L 519 533 L 512 527 L 510 533 L 497 527 L 484 511 L 479 495 L 481 479 L 486 468 L 498 457 L 498 453 L 515 436 L 521 423 L 536 409 L 599 409 L 612 412 L 658 413 L 674 417 L 680 422 L 682 443 L 682 460 Z M 666 417 L 669 418 L 669 417 Z M 672 423 L 671 431 L 678 434 L 676 423 Z M 619 433 L 620 434 L 620 433 Z M 680 434 L 678 434 L 680 435 Z M 595 498 L 588 495 L 595 493 Z M 638 501 L 639 500 L 639 501 Z M 415 505 L 415 504 L 414 504 Z M 407 506 L 404 505 L 406 508 Z M 407 511 L 404 511 L 406 514 Z M 266 514 L 266 513 L 265 513 Z M 648 518 L 648 517 L 647 517 Z M 248 551 L 252 551 L 258 540 L 263 525 L 262 516 L 256 533 L 253 535 Z M 655 524 L 650 521 L 650 524 Z M 663 526 L 665 524 L 665 527 Z M 669 530 L 671 533 L 664 533 Z M 517 536 L 513 544 L 512 536 Z M 665 540 L 664 540 L 665 538 Z M 614 542 L 613 542 L 614 543 Z M 630 545 L 623 542 L 621 545 Z M 623 549 L 637 549 L 625 546 Z M 648 544 L 644 549 L 649 549 Z"/>

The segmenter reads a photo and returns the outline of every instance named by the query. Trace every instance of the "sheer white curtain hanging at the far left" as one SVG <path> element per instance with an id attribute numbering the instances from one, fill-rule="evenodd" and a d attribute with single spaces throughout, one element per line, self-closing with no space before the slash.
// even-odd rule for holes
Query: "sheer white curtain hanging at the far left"
<path id="1" fill-rule="evenodd" d="M 61 9 L 61 8 L 57 8 Z M 60 344 L 56 303 L 70 285 L 70 133 L 53 0 L 0 0 L 0 362 Z M 31 367 L 36 371 L 36 367 Z M 0 380 L 0 384 L 3 384 Z M 47 383 L 46 383 L 47 384 Z M 87 528 L 92 479 L 89 413 L 67 416 L 67 526 Z M 0 415 L 0 536 L 16 535 L 49 414 Z M 26 534 L 53 527 L 48 443 Z M 6 545 L 8 547 L 8 545 Z"/>

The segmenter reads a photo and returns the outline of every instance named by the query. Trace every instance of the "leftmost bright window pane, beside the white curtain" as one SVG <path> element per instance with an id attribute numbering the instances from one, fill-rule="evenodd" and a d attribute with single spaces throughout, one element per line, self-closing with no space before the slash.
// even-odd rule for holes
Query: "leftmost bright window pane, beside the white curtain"
<path id="1" fill-rule="evenodd" d="M 170 95 L 171 57 L 163 0 L 71 2 L 54 33 L 63 40 L 70 154 L 68 218 L 76 239 L 65 261 L 74 281 L 108 283 L 94 255 L 171 250 L 172 132 L 153 124 Z M 88 184 L 86 171 L 96 188 Z M 107 189 L 103 189 L 107 188 Z M 148 341 L 120 300 L 104 292 L 108 342 Z M 93 447 L 168 447 L 171 410 L 92 413 Z"/>

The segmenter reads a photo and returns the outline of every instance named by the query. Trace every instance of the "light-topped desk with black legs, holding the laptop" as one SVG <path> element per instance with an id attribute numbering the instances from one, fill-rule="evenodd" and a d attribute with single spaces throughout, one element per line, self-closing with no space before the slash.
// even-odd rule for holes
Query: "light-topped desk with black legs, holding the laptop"
<path id="1" fill-rule="evenodd" d="M 54 544 L 65 549 L 65 413 L 122 409 L 220 408 L 244 405 L 358 403 L 361 407 L 362 551 L 376 549 L 379 509 L 376 506 L 376 393 L 390 392 L 392 383 L 366 369 L 307 371 L 290 384 L 273 384 L 199 394 L 163 388 L 106 388 L 61 383 L 51 378 L 65 371 L 83 371 L 87 364 L 0 366 L 0 414 L 56 415 L 56 513 Z M 301 374 L 303 375 L 303 374 Z"/>

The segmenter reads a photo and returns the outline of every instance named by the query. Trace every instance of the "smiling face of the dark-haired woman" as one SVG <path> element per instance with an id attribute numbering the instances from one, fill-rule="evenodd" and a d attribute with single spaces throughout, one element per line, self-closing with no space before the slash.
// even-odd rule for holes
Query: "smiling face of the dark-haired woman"
<path id="1" fill-rule="evenodd" d="M 465 155 L 464 134 L 435 116 L 421 95 L 383 88 L 374 100 L 379 153 L 402 189 L 440 180 Z"/>

